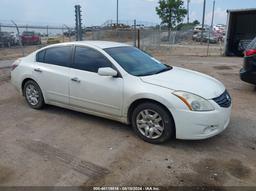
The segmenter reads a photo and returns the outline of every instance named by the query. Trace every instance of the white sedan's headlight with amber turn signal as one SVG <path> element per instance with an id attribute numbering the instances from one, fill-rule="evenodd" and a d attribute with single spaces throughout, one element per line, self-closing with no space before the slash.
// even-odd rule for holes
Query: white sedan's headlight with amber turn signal
<path id="1" fill-rule="evenodd" d="M 175 91 L 173 93 L 175 96 L 181 99 L 186 106 L 191 110 L 191 111 L 213 111 L 214 107 L 212 104 L 195 94 L 184 92 L 184 91 Z"/>

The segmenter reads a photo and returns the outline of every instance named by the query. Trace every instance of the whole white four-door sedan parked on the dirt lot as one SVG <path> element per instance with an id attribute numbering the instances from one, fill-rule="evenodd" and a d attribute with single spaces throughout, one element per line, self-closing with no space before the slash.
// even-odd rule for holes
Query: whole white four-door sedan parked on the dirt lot
<path id="1" fill-rule="evenodd" d="M 150 143 L 206 139 L 230 120 L 221 82 L 121 43 L 47 46 L 15 61 L 11 77 L 34 109 L 50 104 L 131 124 Z"/>

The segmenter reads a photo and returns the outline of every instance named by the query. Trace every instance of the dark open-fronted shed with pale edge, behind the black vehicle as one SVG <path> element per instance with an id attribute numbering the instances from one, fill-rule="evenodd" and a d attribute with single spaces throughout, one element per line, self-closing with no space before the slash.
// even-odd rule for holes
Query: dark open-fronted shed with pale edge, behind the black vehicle
<path id="1" fill-rule="evenodd" d="M 256 36 L 256 9 L 228 10 L 226 56 L 242 56 Z"/>

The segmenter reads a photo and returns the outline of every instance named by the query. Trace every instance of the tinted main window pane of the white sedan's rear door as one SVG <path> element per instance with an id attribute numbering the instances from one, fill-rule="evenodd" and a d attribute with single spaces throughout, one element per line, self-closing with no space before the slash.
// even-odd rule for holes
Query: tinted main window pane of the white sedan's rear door
<path id="1" fill-rule="evenodd" d="M 68 67 L 71 63 L 71 46 L 60 46 L 46 49 L 44 63 Z"/>

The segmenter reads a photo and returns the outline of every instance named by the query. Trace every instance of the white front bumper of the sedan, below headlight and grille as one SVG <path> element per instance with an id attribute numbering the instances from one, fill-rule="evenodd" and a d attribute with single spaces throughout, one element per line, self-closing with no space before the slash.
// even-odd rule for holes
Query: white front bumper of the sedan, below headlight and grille
<path id="1" fill-rule="evenodd" d="M 231 115 L 231 106 L 218 108 L 210 112 L 193 112 L 189 110 L 172 111 L 176 126 L 176 138 L 184 140 L 201 140 L 213 137 L 224 131 Z"/>

